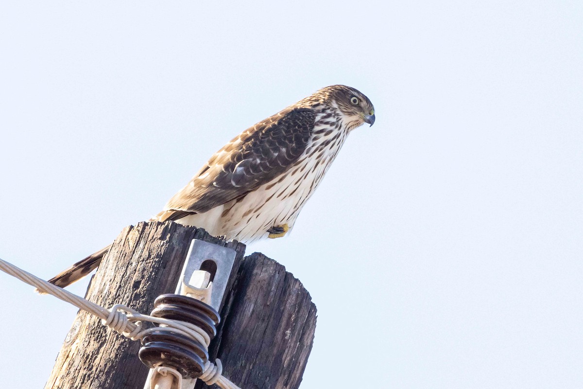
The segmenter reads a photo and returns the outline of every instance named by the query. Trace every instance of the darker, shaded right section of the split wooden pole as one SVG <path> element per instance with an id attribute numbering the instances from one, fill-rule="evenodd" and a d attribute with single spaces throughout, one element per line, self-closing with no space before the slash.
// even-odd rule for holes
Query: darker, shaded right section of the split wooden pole
<path id="1" fill-rule="evenodd" d="M 316 328 L 310 293 L 260 253 L 245 257 L 233 281 L 210 359 L 219 358 L 224 375 L 241 388 L 296 389 Z"/>

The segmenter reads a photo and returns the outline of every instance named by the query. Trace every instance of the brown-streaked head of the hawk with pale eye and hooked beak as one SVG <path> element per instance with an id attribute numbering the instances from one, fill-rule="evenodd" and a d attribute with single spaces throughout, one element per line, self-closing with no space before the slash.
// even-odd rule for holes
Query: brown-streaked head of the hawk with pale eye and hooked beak
<path id="1" fill-rule="evenodd" d="M 363 93 L 352 87 L 326 86 L 304 100 L 309 100 L 312 104 L 320 103 L 335 108 L 342 115 L 342 120 L 349 130 L 364 123 L 374 124 L 373 103 Z"/>

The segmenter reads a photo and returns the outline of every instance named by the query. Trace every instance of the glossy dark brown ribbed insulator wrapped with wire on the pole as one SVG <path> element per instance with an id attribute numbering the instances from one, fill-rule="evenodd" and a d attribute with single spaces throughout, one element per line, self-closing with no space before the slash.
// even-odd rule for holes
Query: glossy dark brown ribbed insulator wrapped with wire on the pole
<path id="1" fill-rule="evenodd" d="M 180 320 L 201 328 L 209 338 L 216 335 L 219 313 L 200 300 L 182 295 L 160 295 L 154 300 L 154 317 Z M 209 358 L 205 345 L 177 334 L 170 327 L 158 327 L 142 338 L 139 358 L 152 369 L 156 366 L 173 367 L 184 378 L 198 378 Z"/>

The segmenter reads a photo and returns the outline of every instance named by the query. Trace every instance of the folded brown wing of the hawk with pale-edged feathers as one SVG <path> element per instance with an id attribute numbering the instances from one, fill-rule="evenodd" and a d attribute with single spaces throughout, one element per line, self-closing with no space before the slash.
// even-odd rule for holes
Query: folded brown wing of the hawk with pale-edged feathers
<path id="1" fill-rule="evenodd" d="M 209 211 L 278 177 L 304 152 L 314 121 L 310 108 L 288 108 L 247 129 L 168 201 L 160 219 Z"/>

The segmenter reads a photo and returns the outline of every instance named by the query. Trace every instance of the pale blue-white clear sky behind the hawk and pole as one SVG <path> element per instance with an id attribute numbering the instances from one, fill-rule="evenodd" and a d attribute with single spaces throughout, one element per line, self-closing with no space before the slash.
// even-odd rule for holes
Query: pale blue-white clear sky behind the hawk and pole
<path id="1" fill-rule="evenodd" d="M 3 2 L 0 258 L 50 278 L 343 83 L 375 125 L 289 236 L 248 247 L 318 307 L 301 387 L 581 388 L 582 21 L 574 1 Z M 75 317 L 32 289 L 0 274 L 5 387 L 43 387 Z"/>

